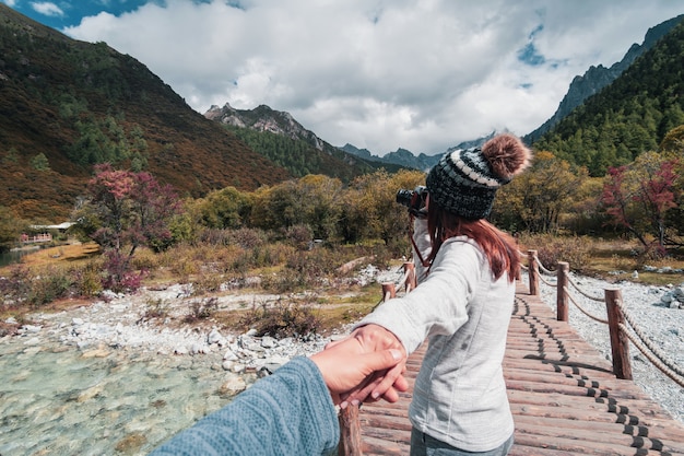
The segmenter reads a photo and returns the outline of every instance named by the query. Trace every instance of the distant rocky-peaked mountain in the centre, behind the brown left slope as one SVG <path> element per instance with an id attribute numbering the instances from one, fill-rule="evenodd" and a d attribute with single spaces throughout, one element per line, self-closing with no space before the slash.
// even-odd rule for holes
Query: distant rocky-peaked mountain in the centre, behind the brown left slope
<path id="1" fill-rule="evenodd" d="M 228 103 L 223 107 L 214 105 L 204 117 L 223 125 L 251 149 L 296 177 L 325 174 L 349 182 L 380 167 L 388 171 L 400 167 L 335 148 L 304 128 L 290 113 L 267 105 L 255 109 L 235 109 Z"/>

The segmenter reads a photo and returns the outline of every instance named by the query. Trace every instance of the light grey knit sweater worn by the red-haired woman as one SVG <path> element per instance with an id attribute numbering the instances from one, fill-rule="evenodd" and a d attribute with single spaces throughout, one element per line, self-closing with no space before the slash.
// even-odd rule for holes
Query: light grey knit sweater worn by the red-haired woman
<path id="1" fill-rule="evenodd" d="M 416 220 L 423 257 L 426 232 L 425 221 Z M 507 274 L 494 281 L 482 250 L 464 236 L 443 244 L 427 274 L 416 268 L 415 290 L 356 326 L 387 328 L 408 353 L 428 340 L 409 409 L 416 429 L 469 452 L 496 448 L 514 432 L 502 362 L 515 284 Z"/>

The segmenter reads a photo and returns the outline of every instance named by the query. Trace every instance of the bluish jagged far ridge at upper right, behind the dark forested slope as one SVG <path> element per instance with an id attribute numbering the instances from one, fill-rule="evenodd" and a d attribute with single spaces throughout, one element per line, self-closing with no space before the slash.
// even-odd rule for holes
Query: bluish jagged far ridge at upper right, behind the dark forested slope
<path id="1" fill-rule="evenodd" d="M 523 137 L 523 141 L 527 143 L 533 143 L 542 135 L 549 131 L 552 127 L 558 124 L 565 118 L 573 109 L 581 105 L 585 100 L 599 93 L 603 87 L 610 85 L 615 81 L 627 68 L 634 63 L 634 61 L 647 50 L 651 49 L 660 38 L 668 34 L 674 26 L 676 26 L 684 19 L 684 14 L 676 17 L 664 21 L 654 27 L 649 28 L 644 37 L 644 43 L 637 45 L 636 43 L 625 54 L 625 57 L 616 63 L 613 63 L 610 68 L 605 68 L 602 65 L 598 67 L 590 67 L 583 75 L 577 75 L 570 83 L 570 86 L 561 101 L 558 109 L 554 113 L 549 120 L 546 120 L 536 130 L 528 133 Z"/>

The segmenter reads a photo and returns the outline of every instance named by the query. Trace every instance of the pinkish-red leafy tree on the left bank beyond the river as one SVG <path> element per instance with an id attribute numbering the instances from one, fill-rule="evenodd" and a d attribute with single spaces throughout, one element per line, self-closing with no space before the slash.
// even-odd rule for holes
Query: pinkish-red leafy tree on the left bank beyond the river
<path id="1" fill-rule="evenodd" d="M 87 185 L 87 200 L 76 214 L 79 229 L 104 250 L 105 287 L 135 288 L 131 258 L 140 246 L 163 250 L 172 243 L 168 221 L 179 201 L 170 186 L 162 186 L 150 173 L 95 166 Z"/>

